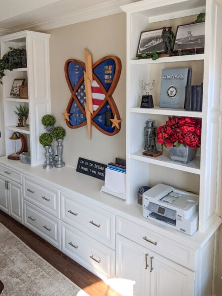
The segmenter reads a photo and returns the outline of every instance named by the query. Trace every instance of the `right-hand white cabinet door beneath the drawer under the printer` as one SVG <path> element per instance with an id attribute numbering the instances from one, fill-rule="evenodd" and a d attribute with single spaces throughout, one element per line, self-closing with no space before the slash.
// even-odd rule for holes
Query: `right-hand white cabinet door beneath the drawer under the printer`
<path id="1" fill-rule="evenodd" d="M 193 296 L 195 273 L 155 253 L 150 257 L 152 296 Z"/>

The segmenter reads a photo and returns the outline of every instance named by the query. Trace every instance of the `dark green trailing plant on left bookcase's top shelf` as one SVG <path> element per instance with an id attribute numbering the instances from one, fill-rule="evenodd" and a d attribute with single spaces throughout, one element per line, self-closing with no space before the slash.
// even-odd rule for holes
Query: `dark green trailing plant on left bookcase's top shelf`
<path id="1" fill-rule="evenodd" d="M 0 59 L 0 84 L 2 84 L 2 78 L 5 75 L 4 70 L 12 71 L 25 67 L 27 67 L 26 50 L 9 47 L 9 51 Z"/>

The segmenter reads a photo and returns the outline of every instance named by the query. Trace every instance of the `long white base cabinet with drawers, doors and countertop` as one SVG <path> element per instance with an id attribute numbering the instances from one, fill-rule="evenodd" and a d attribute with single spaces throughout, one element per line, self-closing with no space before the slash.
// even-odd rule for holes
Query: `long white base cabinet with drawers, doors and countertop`
<path id="1" fill-rule="evenodd" d="M 134 283 L 135 296 L 211 295 L 221 221 L 189 236 L 144 218 L 137 202 L 101 192 L 102 180 L 69 166 L 48 173 L 0 157 L 0 209 L 15 219 L 21 212 L 21 223 L 100 278 Z M 9 178 L 23 192 L 12 211 Z"/>

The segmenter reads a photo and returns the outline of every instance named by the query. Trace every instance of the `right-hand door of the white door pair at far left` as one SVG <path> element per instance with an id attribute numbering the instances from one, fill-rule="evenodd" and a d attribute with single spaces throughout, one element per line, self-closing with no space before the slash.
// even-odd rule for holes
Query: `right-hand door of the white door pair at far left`
<path id="1" fill-rule="evenodd" d="M 22 209 L 22 185 L 13 181 L 9 184 L 9 215 L 17 221 L 23 223 L 23 209 Z"/>

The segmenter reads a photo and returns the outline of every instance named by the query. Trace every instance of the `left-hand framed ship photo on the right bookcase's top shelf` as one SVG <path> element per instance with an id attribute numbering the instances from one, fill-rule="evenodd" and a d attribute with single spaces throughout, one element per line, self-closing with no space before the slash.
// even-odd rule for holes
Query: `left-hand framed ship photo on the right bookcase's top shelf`
<path id="1" fill-rule="evenodd" d="M 167 27 L 166 31 L 170 35 L 171 27 Z M 141 57 L 142 53 L 151 53 L 153 50 L 164 52 L 162 32 L 163 28 L 141 32 L 136 56 Z"/>

